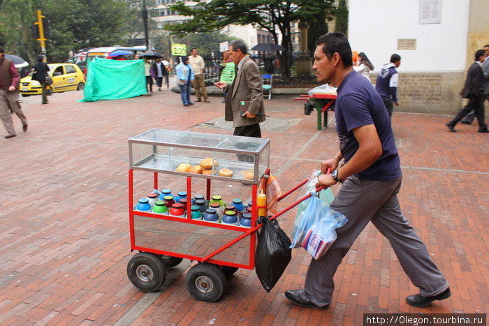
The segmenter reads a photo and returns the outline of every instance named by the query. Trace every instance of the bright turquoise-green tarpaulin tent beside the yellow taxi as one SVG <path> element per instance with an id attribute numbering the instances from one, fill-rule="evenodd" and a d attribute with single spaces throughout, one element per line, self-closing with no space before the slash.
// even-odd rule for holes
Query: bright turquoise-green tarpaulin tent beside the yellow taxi
<path id="1" fill-rule="evenodd" d="M 146 94 L 143 60 L 88 61 L 87 84 L 82 102 L 117 100 Z"/>

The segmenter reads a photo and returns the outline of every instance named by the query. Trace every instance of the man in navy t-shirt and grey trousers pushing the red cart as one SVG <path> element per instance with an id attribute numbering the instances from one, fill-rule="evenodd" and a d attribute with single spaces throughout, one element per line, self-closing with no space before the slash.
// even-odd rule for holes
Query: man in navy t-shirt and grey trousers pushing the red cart
<path id="1" fill-rule="evenodd" d="M 321 163 L 323 174 L 316 186 L 343 183 L 330 207 L 344 214 L 348 223 L 336 230 L 337 239 L 326 254 L 311 260 L 304 288 L 287 290 L 285 295 L 298 306 L 327 308 L 335 289 L 337 267 L 360 232 L 372 222 L 391 242 L 402 269 L 420 289 L 406 302 L 429 306 L 450 297 L 450 288 L 425 244 L 402 215 L 397 200 L 402 172 L 391 118 L 381 96 L 365 77 L 353 71 L 352 64 L 351 47 L 344 34 L 329 33 L 317 40 L 312 68 L 319 82 L 338 86 L 335 119 L 340 150 Z M 342 159 L 346 163 L 340 167 Z M 327 174 L 328 169 L 333 172 Z"/>

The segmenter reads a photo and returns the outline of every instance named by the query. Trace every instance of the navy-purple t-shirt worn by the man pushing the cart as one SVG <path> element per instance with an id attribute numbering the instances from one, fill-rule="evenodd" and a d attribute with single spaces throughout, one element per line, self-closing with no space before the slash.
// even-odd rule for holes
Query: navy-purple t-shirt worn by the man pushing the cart
<path id="1" fill-rule="evenodd" d="M 355 71 L 346 75 L 337 89 L 335 118 L 340 151 L 345 161 L 349 161 L 358 150 L 358 141 L 352 130 L 368 124 L 374 124 L 377 128 L 382 155 L 369 168 L 357 173 L 356 177 L 379 181 L 400 177 L 400 160 L 395 147 L 391 117 L 370 81 Z"/>

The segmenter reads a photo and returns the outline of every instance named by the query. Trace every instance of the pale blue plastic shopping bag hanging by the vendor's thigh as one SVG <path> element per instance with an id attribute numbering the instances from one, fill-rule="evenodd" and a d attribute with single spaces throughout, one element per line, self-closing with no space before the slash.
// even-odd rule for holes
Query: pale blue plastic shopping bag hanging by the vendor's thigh
<path id="1" fill-rule="evenodd" d="M 321 258 L 336 240 L 336 229 L 348 220 L 335 212 L 328 202 L 316 197 L 315 192 L 305 200 L 307 207 L 296 216 L 299 219 L 291 248 L 304 248 L 314 259 Z"/>

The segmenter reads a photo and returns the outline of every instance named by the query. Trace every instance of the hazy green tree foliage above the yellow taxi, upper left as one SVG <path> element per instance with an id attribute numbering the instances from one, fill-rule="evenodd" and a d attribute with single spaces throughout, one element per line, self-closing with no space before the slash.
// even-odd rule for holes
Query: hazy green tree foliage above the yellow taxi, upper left
<path id="1" fill-rule="evenodd" d="M 70 50 L 82 47 L 126 43 L 126 35 L 133 30 L 128 17 L 136 11 L 140 15 L 124 0 L 0 1 L 0 45 L 31 62 L 41 52 L 29 30 L 37 21 L 36 10 L 50 20 L 49 62 L 64 61 Z"/>

